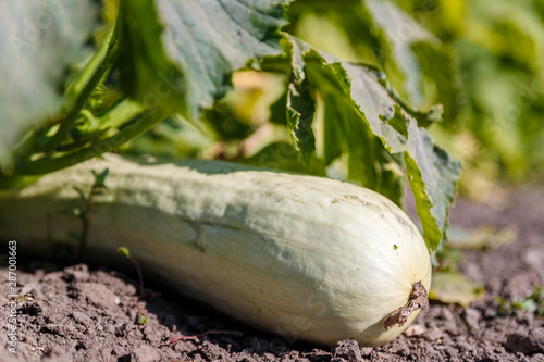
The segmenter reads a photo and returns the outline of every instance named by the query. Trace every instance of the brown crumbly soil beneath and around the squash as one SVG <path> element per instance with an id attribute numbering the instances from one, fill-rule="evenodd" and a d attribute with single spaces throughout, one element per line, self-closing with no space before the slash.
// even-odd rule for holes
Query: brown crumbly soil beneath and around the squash
<path id="1" fill-rule="evenodd" d="M 18 260 L 21 291 L 17 354 L 11 353 L 1 303 L 1 361 L 544 361 L 544 317 L 516 310 L 498 313 L 506 300 L 544 285 L 544 188 L 508 192 L 507 208 L 458 200 L 452 223 L 466 227 L 516 227 L 514 244 L 492 251 L 466 251 L 462 273 L 485 287 L 469 308 L 434 303 L 397 339 L 378 348 L 350 340 L 330 349 L 302 345 L 245 327 L 198 302 L 161 292 L 134 305 L 137 277 L 87 264 Z M 5 266 L 5 259 L 2 260 Z M 8 296 L 8 270 L 0 270 L 0 296 Z M 5 297 L 4 297 L 5 298 Z M 504 315 L 507 314 L 507 315 Z M 169 341 L 178 336 L 198 338 Z M 221 333 L 222 332 L 222 333 Z"/>

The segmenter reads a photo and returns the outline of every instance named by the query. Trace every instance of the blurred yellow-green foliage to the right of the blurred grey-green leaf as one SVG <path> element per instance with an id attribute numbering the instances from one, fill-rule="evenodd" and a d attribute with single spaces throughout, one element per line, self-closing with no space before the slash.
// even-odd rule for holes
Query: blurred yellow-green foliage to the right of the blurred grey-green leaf
<path id="1" fill-rule="evenodd" d="M 397 3 L 458 54 L 468 107 L 435 137 L 465 161 L 469 173 L 475 168 L 515 183 L 542 175 L 544 2 Z"/>

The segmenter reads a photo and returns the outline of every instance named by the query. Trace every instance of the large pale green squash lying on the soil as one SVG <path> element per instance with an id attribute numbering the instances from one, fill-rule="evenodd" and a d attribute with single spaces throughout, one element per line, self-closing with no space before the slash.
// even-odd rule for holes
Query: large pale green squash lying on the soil
<path id="1" fill-rule="evenodd" d="M 87 260 L 115 264 L 126 246 L 173 289 L 247 324 L 297 339 L 376 346 L 403 327 L 383 319 L 411 286 L 429 289 L 431 263 L 417 227 L 394 203 L 329 178 L 185 161 L 140 165 L 116 155 L 0 191 L 0 239 L 51 255 L 77 245 L 70 211 L 109 167 L 89 215 Z"/>

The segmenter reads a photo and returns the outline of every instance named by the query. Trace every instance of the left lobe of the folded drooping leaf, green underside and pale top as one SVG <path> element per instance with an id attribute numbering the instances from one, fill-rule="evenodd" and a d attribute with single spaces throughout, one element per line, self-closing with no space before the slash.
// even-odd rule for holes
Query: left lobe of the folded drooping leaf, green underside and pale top
<path id="1" fill-rule="evenodd" d="M 403 200 L 406 138 L 383 120 L 397 105 L 373 71 L 310 50 L 305 54 L 309 80 L 324 100 L 324 157 L 331 163 L 348 155 L 348 179 L 359 182 L 397 204 Z"/>

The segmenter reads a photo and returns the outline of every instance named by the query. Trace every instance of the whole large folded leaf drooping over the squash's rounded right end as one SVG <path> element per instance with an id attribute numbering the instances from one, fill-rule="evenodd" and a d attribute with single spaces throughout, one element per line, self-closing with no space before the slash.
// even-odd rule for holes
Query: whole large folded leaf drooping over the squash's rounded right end
<path id="1" fill-rule="evenodd" d="M 290 47 L 293 71 L 302 71 L 308 87 L 323 97 L 325 163 L 347 154 L 348 178 L 396 203 L 401 203 L 406 163 L 429 250 L 436 251 L 446 238 L 459 162 L 436 146 L 416 118 L 391 96 L 391 86 L 383 73 L 341 61 L 295 38 L 289 41 L 294 43 Z M 290 79 L 299 77 L 293 75 Z"/>

